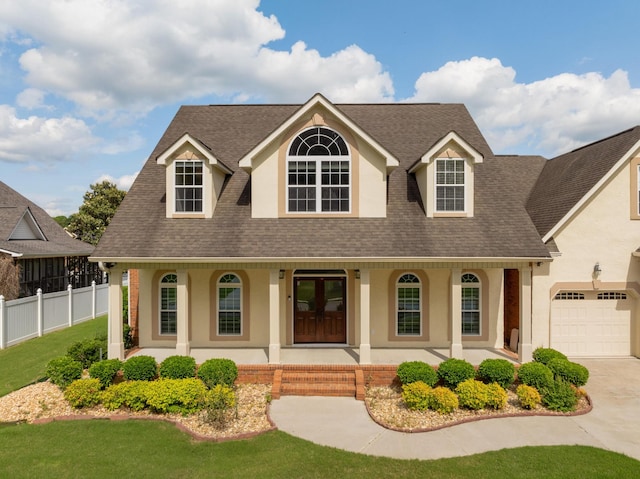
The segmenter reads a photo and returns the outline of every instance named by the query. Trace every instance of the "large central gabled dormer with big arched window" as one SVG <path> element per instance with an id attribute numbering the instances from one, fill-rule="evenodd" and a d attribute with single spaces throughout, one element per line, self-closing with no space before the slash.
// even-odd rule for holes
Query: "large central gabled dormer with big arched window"
<path id="1" fill-rule="evenodd" d="M 398 160 L 320 94 L 239 163 L 253 218 L 385 217 Z"/>

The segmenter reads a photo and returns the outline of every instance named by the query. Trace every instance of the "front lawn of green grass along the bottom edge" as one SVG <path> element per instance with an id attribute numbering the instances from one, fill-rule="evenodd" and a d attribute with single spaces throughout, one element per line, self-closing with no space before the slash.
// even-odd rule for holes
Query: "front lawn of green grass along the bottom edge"
<path id="1" fill-rule="evenodd" d="M 586 446 L 525 447 L 436 461 L 399 460 L 318 446 L 275 431 L 242 441 L 195 442 L 175 426 L 101 420 L 0 429 L 0 478 L 619 478 L 640 462 Z"/>

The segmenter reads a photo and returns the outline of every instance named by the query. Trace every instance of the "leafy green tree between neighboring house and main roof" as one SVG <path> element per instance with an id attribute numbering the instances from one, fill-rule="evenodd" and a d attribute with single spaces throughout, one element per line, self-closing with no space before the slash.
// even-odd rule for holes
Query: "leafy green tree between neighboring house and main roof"
<path id="1" fill-rule="evenodd" d="M 97 245 L 125 194 L 110 181 L 91 185 L 78 212 L 70 216 L 67 230 L 78 239 Z"/>

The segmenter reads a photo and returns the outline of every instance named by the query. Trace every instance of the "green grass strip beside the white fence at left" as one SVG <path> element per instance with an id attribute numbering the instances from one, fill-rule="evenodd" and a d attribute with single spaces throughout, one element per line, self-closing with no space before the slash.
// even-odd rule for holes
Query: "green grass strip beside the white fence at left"
<path id="1" fill-rule="evenodd" d="M 41 380 L 49 360 L 64 356 L 72 343 L 106 333 L 107 317 L 101 316 L 0 350 L 0 396 Z"/>

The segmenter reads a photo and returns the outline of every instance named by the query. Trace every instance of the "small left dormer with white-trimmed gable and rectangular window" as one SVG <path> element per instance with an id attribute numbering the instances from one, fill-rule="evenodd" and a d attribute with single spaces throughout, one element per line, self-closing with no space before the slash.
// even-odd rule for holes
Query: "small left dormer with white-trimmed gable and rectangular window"
<path id="1" fill-rule="evenodd" d="M 211 218 L 232 171 L 188 133 L 156 158 L 166 169 L 167 218 Z"/>

